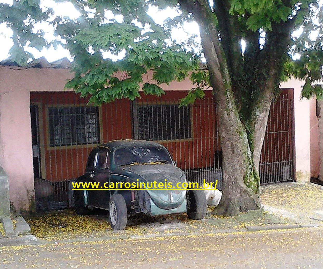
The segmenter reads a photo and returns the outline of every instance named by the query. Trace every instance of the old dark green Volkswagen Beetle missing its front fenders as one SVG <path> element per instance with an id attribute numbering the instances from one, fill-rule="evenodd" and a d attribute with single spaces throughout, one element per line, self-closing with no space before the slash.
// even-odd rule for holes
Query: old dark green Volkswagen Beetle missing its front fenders
<path id="1" fill-rule="evenodd" d="M 159 190 L 149 185 L 164 183 L 165 179 L 172 186 L 186 182 L 184 172 L 176 167 L 164 146 L 145 140 L 110 141 L 90 152 L 85 174 L 76 181 L 98 184 L 98 189 L 74 191 L 76 212 L 86 215 L 93 207 L 109 210 L 113 230 L 125 229 L 127 218 L 139 212 L 150 216 L 187 212 L 191 219 L 205 217 L 203 190 Z M 125 189 L 124 185 L 116 185 L 121 182 L 144 182 L 149 187 Z M 107 189 L 110 183 L 117 187 Z"/>

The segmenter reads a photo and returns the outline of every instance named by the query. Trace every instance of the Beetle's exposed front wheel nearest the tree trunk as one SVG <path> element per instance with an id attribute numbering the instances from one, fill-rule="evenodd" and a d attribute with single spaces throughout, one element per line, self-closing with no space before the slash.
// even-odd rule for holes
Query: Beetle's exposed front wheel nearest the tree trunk
<path id="1" fill-rule="evenodd" d="M 186 213 L 190 219 L 204 219 L 207 201 L 203 190 L 190 190 L 187 194 Z"/>

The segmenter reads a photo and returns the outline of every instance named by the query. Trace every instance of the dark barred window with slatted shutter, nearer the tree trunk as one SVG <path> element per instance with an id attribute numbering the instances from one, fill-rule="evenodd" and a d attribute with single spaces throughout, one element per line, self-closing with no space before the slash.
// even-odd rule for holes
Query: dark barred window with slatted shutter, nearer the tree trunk
<path id="1" fill-rule="evenodd" d="M 138 105 L 138 138 L 172 140 L 191 138 L 190 106 Z"/>

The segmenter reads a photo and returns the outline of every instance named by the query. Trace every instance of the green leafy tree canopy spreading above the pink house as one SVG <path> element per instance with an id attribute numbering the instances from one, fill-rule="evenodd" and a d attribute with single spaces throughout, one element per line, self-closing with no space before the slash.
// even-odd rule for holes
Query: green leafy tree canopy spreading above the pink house
<path id="1" fill-rule="evenodd" d="M 82 95 L 91 94 L 91 101 L 96 103 L 122 96 L 131 100 L 138 97 L 142 75 L 148 70 L 153 72 L 155 81 L 145 83 L 144 92 L 161 95 L 163 90 L 158 84 L 182 80 L 188 71 L 198 69 L 200 53 L 191 49 L 196 39 L 178 43 L 171 38 L 172 28 L 194 20 L 190 10 L 183 9 L 178 1 L 70 2 L 80 13 L 76 19 L 57 17 L 51 8 L 44 7 L 37 0 L 13 1 L 12 6 L 1 4 L 0 21 L 13 30 L 14 46 L 10 50 L 10 59 L 20 64 L 33 59 L 33 55 L 24 50 L 26 45 L 41 50 L 62 44 L 74 60 L 75 76 L 66 86 Z M 179 2 L 185 5 L 185 1 Z M 262 83 L 262 75 L 267 75 L 263 72 L 263 64 L 268 62 L 266 57 L 272 53 L 279 54 L 281 58 L 276 59 L 281 62 L 276 65 L 281 69 L 276 86 L 284 76 L 295 75 L 307 80 L 304 96 L 310 97 L 313 93 L 321 95 L 321 88 L 311 85 L 312 81 L 321 79 L 322 12 L 318 2 L 228 0 L 214 1 L 214 5 L 209 5 L 208 1 L 196 2 L 205 6 L 210 22 L 219 29 L 233 84 L 240 88 L 240 100 L 250 101 L 253 96 L 257 98 L 257 84 Z M 173 7 L 178 10 L 179 16 L 158 25 L 147 13 L 150 6 L 158 6 L 159 9 Z M 115 16 L 121 15 L 122 21 L 107 19 L 107 11 L 112 11 Z M 54 27 L 57 38 L 48 42 L 42 30 L 34 30 L 34 25 L 41 21 L 47 21 Z M 228 27 L 230 21 L 234 28 Z M 148 26 L 148 30 L 144 30 L 147 28 L 145 26 Z M 279 42 L 290 38 L 290 34 L 299 28 L 303 29 L 301 35 L 291 37 L 288 49 L 283 47 L 279 51 Z M 273 38 L 272 33 L 275 34 Z M 244 53 L 241 51 L 241 39 L 246 42 Z M 111 51 L 113 54 L 123 51 L 125 57 L 112 62 L 103 58 L 102 51 Z M 295 53 L 299 53 L 300 59 L 291 61 Z M 114 76 L 116 71 L 125 72 L 124 79 Z M 209 84 L 205 81 L 206 77 L 202 73 L 195 74 L 193 81 Z M 201 89 L 197 87 L 187 101 L 203 96 Z"/>

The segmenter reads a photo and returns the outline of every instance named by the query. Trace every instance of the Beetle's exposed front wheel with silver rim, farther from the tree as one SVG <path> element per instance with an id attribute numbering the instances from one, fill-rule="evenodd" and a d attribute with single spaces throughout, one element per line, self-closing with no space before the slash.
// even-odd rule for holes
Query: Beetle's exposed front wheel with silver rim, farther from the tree
<path id="1" fill-rule="evenodd" d="M 109 202 L 109 221 L 112 230 L 124 230 L 127 225 L 127 205 L 123 196 L 113 194 Z"/>

